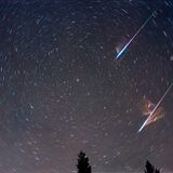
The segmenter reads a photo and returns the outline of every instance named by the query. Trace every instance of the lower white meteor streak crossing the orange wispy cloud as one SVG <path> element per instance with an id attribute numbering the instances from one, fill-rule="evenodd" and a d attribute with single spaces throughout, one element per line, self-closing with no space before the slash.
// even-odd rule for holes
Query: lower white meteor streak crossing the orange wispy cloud
<path id="1" fill-rule="evenodd" d="M 138 130 L 138 133 L 145 128 L 146 123 L 152 117 L 152 115 L 155 114 L 155 111 L 157 110 L 157 108 L 159 107 L 159 105 L 161 104 L 161 102 L 163 101 L 163 98 L 165 97 L 165 95 L 168 94 L 168 92 L 171 90 L 172 85 L 173 85 L 173 83 L 170 84 L 169 89 L 165 91 L 165 93 L 163 94 L 163 96 L 160 98 L 160 101 L 158 102 L 158 104 L 155 106 L 154 110 L 150 112 L 150 115 L 148 116 L 148 118 L 145 120 L 145 122 L 143 123 L 143 125 Z"/>

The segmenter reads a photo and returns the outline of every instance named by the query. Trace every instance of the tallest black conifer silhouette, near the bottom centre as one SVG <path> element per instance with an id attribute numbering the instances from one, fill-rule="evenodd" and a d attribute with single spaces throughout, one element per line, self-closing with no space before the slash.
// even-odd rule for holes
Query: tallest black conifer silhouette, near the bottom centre
<path id="1" fill-rule="evenodd" d="M 89 158 L 83 151 L 78 155 L 78 173 L 91 173 L 91 165 L 89 163 Z"/>

